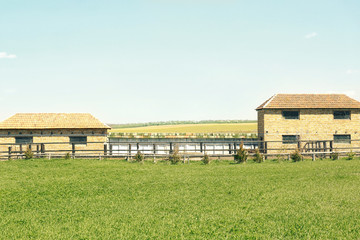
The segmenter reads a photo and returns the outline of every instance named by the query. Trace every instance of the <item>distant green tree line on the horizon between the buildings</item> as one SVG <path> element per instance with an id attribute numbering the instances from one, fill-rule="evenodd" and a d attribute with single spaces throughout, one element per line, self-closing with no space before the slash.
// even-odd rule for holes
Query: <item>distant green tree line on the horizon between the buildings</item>
<path id="1" fill-rule="evenodd" d="M 256 123 L 256 120 L 201 120 L 201 121 L 164 121 L 147 123 L 124 123 L 109 124 L 111 128 L 136 128 L 162 125 L 180 125 L 180 124 L 211 124 L 211 123 Z"/>

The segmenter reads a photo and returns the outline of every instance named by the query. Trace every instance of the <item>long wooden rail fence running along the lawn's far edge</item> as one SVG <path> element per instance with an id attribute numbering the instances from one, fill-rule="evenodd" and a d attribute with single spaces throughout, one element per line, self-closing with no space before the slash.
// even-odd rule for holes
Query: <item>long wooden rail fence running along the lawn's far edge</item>
<path id="1" fill-rule="evenodd" d="M 1 159 L 19 159 L 24 158 L 25 151 L 30 148 L 35 158 L 64 158 L 69 154 L 72 158 L 126 158 L 131 159 L 137 152 L 141 152 L 146 158 L 168 158 L 175 150 L 184 159 L 200 159 L 207 154 L 212 158 L 232 158 L 239 149 L 240 144 L 252 156 L 256 149 L 259 149 L 266 158 L 290 158 L 290 153 L 300 150 L 304 157 L 317 158 L 329 157 L 331 153 L 337 152 L 340 156 L 353 152 L 355 155 L 360 154 L 360 140 L 351 140 L 349 143 L 334 143 L 332 140 L 318 141 L 297 141 L 291 146 L 275 147 L 271 146 L 275 143 L 283 143 L 282 141 L 259 141 L 257 139 L 219 139 L 209 141 L 208 139 L 178 139 L 161 141 L 148 139 L 139 141 L 138 139 L 127 139 L 126 141 L 114 142 L 111 139 L 106 142 L 88 142 L 87 144 L 102 144 L 103 148 L 89 149 L 84 145 L 76 143 L 49 142 L 49 143 L 32 143 L 32 144 L 0 144 Z M 59 149 L 53 149 L 53 145 L 57 145 Z M 71 148 L 70 148 L 70 146 Z M 59 146 L 64 146 L 62 149 Z"/>

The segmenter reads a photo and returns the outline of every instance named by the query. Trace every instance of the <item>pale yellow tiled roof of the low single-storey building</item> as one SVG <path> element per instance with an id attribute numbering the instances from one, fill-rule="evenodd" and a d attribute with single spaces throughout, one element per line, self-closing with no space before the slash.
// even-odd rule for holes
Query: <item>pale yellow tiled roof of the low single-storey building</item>
<path id="1" fill-rule="evenodd" d="M 0 129 L 110 129 L 89 113 L 17 113 L 0 123 Z"/>

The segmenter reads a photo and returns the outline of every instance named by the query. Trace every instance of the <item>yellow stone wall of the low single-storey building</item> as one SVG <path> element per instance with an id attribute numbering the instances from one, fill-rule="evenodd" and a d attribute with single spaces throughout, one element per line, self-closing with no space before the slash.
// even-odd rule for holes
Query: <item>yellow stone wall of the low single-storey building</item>
<path id="1" fill-rule="evenodd" d="M 15 143 L 15 137 L 33 137 L 33 144 L 31 148 L 36 152 L 37 146 L 45 144 L 45 151 L 55 151 L 59 154 L 65 155 L 67 152 L 72 152 L 72 144 L 70 144 L 70 136 L 83 137 L 87 136 L 87 144 L 76 144 L 76 154 L 81 153 L 81 150 L 96 150 L 94 152 L 87 152 L 91 155 L 103 154 L 104 143 L 107 141 L 107 130 L 103 129 L 74 129 L 74 130 L 0 130 L 0 152 L 7 152 L 11 146 L 12 151 L 20 151 L 19 145 L 7 145 L 8 143 Z M 51 144 L 49 144 L 51 143 Z M 23 145 L 22 150 L 25 151 L 28 145 Z M 4 153 L 3 153 L 4 154 Z"/>

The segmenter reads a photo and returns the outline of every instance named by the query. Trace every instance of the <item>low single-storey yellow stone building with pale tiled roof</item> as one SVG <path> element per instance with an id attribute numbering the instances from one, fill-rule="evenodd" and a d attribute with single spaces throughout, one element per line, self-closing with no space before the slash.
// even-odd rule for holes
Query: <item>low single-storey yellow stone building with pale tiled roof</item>
<path id="1" fill-rule="evenodd" d="M 18 113 L 0 123 L 0 151 L 103 153 L 108 129 L 87 113 Z"/>

